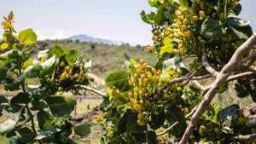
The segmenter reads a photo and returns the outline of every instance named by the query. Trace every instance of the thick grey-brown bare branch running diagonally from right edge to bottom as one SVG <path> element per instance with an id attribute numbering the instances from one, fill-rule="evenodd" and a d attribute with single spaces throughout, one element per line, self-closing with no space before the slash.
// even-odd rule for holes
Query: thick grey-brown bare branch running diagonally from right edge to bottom
<path id="1" fill-rule="evenodd" d="M 195 125 L 197 124 L 197 121 L 201 117 L 201 114 L 207 110 L 207 107 L 211 104 L 212 99 L 218 92 L 218 89 L 221 84 L 224 84 L 227 78 L 229 78 L 231 72 L 233 72 L 237 66 L 240 64 L 241 56 L 244 55 L 249 48 L 253 46 L 253 44 L 256 43 L 256 34 L 253 34 L 252 37 L 247 39 L 245 43 L 243 43 L 238 49 L 236 49 L 236 52 L 234 55 L 232 55 L 230 61 L 223 67 L 223 69 L 218 73 L 217 78 L 215 82 L 212 84 L 211 89 L 207 91 L 207 94 L 203 97 L 201 104 L 193 114 L 190 124 L 187 127 L 183 138 L 181 141 L 179 141 L 179 144 L 186 144 L 189 140 L 190 135 L 192 135 L 192 132 L 194 130 Z"/>

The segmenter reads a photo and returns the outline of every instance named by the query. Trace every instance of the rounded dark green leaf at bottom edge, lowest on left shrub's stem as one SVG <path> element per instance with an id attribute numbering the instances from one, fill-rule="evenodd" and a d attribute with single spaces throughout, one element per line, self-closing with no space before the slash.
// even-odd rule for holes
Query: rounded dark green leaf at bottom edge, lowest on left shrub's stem
<path id="1" fill-rule="evenodd" d="M 20 128 L 15 132 L 16 132 L 16 135 L 18 135 L 19 141 L 25 142 L 25 143 L 32 142 L 34 138 L 37 136 L 32 132 L 32 130 L 28 129 L 27 127 Z"/>

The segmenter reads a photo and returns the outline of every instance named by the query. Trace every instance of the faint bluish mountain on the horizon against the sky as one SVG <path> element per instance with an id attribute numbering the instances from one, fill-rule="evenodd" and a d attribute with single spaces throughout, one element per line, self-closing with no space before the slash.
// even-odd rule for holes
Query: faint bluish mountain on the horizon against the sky
<path id="1" fill-rule="evenodd" d="M 104 38 L 100 38 L 100 37 L 92 37 L 92 36 L 88 36 L 85 34 L 73 35 L 71 37 L 68 37 L 67 39 L 70 39 L 73 41 L 79 40 L 80 42 L 103 43 L 103 44 L 108 44 L 108 45 L 125 44 L 125 42 L 113 41 L 113 40 L 104 39 Z"/>

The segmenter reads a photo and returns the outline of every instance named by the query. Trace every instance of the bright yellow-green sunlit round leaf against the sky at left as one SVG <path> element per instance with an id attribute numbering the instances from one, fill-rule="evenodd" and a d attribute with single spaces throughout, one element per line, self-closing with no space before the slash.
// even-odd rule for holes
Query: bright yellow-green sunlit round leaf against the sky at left
<path id="1" fill-rule="evenodd" d="M 20 44 L 32 44 L 37 42 L 37 35 L 32 29 L 21 31 L 18 36 Z"/>

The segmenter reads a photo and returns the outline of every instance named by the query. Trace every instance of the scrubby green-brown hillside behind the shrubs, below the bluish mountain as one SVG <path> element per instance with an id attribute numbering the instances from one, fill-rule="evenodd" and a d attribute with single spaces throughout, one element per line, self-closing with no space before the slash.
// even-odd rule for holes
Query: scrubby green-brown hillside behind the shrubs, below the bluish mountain
<path id="1" fill-rule="evenodd" d="M 92 61 L 91 73 L 105 79 L 110 72 L 124 70 L 124 53 L 131 56 L 131 59 L 144 59 L 149 65 L 156 60 L 154 53 L 148 53 L 143 46 L 130 46 L 129 44 L 109 45 L 90 42 L 78 42 L 71 40 L 44 40 L 35 43 L 32 47 L 36 50 L 51 49 L 54 45 L 60 44 L 65 49 L 77 49 L 84 55 L 84 59 Z"/>

